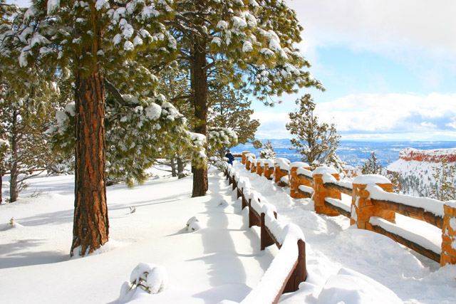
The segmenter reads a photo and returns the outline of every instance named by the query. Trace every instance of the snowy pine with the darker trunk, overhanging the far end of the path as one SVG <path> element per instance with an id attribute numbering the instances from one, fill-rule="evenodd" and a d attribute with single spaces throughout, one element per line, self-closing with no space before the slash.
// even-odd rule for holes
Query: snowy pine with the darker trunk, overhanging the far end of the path
<path id="1" fill-rule="evenodd" d="M 281 0 L 179 0 L 167 23 L 177 40 L 181 67 L 190 70 L 195 132 L 207 136 L 209 83 L 246 88 L 267 98 L 296 87 L 323 89 L 299 53 L 302 27 Z M 207 191 L 207 168 L 195 169 L 192 196 Z"/>

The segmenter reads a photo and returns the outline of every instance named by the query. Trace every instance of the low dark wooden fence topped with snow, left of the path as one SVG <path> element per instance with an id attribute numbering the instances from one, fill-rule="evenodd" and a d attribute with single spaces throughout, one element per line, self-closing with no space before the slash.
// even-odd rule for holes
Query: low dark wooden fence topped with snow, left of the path
<path id="1" fill-rule="evenodd" d="M 304 234 L 295 224 L 284 225 L 277 221 L 275 207 L 261 199 L 250 187 L 249 180 L 239 177 L 231 166 L 224 173 L 232 189 L 236 189 L 237 198 L 242 198 L 242 209 L 249 211 L 249 227 L 260 227 L 261 250 L 274 244 L 279 248 L 257 287 L 241 303 L 277 303 L 282 293 L 296 291 L 299 283 L 306 281 Z"/>

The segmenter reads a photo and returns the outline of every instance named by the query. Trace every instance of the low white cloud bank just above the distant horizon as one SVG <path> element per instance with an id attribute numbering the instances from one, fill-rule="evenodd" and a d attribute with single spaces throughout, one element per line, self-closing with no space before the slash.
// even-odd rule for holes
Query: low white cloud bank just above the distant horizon
<path id="1" fill-rule="evenodd" d="M 317 103 L 315 113 L 321 122 L 336 124 L 345 139 L 410 139 L 430 138 L 434 135 L 454 136 L 456 129 L 456 93 L 412 94 L 357 94 Z M 259 138 L 286 138 L 289 122 L 287 112 L 277 107 L 256 111 L 260 120 Z M 438 133 L 437 133 L 438 132 Z"/>

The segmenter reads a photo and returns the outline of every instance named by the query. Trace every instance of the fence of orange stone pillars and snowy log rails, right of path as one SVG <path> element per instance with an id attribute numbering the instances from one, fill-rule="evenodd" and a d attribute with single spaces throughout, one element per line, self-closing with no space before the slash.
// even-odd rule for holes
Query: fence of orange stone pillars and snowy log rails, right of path
<path id="1" fill-rule="evenodd" d="M 423 256 L 440 262 L 441 266 L 456 264 L 456 201 L 442 202 L 394 194 L 391 182 L 380 175 L 361 175 L 350 182 L 339 180 L 335 169 L 318 167 L 312 172 L 308 164 L 290 164 L 287 159 L 276 159 L 274 174 L 265 174 L 266 160 L 256 159 L 256 162 L 264 164 L 264 171 L 257 173 L 267 179 L 273 179 L 271 176 L 274 175 L 274 182 L 279 186 L 288 185 L 291 197 L 313 199 L 317 213 L 328 216 L 342 214 L 359 229 L 389 236 Z M 396 214 L 442 229 L 440 246 L 395 225 Z"/>

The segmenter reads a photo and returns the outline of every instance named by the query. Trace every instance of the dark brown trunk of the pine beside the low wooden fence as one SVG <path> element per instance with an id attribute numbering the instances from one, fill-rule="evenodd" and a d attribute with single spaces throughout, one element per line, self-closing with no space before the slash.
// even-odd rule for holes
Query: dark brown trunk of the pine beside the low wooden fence
<path id="1" fill-rule="evenodd" d="M 206 63 L 206 47 L 202 39 L 197 39 L 195 42 L 195 51 L 192 60 L 191 68 L 191 85 L 192 93 L 194 94 L 195 117 L 197 125 L 195 132 L 204 135 L 207 138 L 207 73 Z M 207 151 L 207 140 L 205 149 Z M 193 192 L 192 197 L 204 196 L 209 189 L 207 181 L 207 167 L 195 168 L 193 173 Z"/>

